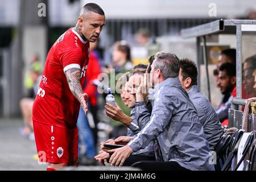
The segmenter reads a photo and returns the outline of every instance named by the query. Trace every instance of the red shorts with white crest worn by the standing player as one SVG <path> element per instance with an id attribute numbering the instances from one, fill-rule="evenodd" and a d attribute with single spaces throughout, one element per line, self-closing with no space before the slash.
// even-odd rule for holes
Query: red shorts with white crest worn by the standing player
<path id="1" fill-rule="evenodd" d="M 39 162 L 69 163 L 78 158 L 78 130 L 33 121 Z"/>

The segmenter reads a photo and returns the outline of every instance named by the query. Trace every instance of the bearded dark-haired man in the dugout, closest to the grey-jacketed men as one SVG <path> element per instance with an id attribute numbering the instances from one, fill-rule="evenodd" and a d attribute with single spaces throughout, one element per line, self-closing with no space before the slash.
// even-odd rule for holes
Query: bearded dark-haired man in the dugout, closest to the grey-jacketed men
<path id="1" fill-rule="evenodd" d="M 236 66 L 234 64 L 224 63 L 220 65 L 217 84 L 224 97 L 216 113 L 221 125 L 228 126 L 228 110 L 232 104 L 233 97 L 236 97 Z M 228 94 L 230 97 L 226 100 Z"/>

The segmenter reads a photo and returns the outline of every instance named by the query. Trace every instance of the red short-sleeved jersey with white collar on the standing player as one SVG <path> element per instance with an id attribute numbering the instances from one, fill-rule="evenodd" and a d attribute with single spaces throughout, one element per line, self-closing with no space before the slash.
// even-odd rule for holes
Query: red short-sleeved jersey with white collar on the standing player
<path id="1" fill-rule="evenodd" d="M 33 106 L 33 121 L 59 127 L 75 127 L 80 102 L 68 86 L 65 71 L 81 69 L 81 83 L 89 61 L 89 42 L 69 28 L 50 49 Z"/>

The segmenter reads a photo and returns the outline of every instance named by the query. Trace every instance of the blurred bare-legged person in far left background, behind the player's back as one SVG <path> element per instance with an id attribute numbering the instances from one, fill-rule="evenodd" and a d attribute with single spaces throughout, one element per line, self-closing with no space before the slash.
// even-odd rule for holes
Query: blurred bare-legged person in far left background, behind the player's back
<path id="1" fill-rule="evenodd" d="M 20 110 L 22 111 L 22 117 L 24 122 L 24 127 L 20 129 L 22 135 L 28 137 L 29 139 L 34 139 L 33 124 L 32 124 L 32 107 L 34 104 L 34 99 L 38 92 L 38 87 L 42 79 L 41 70 L 39 69 L 38 62 L 35 61 L 30 65 L 28 77 L 32 80 L 31 97 L 22 98 L 20 100 Z"/>

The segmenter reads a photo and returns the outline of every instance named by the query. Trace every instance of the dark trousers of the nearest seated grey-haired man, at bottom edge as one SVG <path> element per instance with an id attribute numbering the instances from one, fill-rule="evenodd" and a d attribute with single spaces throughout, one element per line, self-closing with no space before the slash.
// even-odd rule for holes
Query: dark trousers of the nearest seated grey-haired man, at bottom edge
<path id="1" fill-rule="evenodd" d="M 134 163 L 131 167 L 141 168 L 144 171 L 189 171 L 188 169 L 181 167 L 178 163 L 173 161 L 168 162 L 153 162 L 153 161 L 141 161 Z"/>

